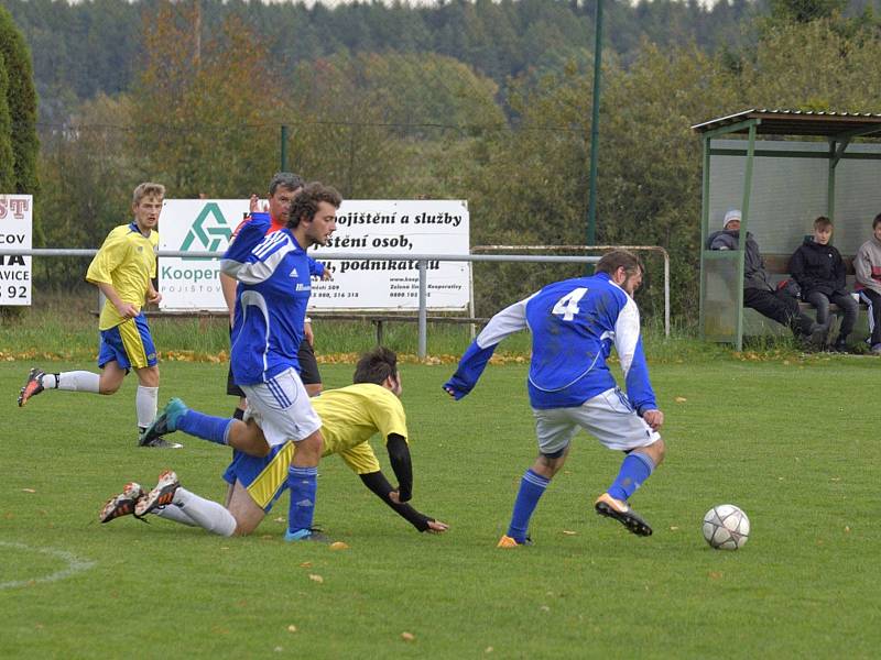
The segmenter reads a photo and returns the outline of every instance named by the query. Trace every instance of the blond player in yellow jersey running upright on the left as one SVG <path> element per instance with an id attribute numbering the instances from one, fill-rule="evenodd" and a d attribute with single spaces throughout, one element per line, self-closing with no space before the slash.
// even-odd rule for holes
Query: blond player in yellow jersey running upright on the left
<path id="1" fill-rule="evenodd" d="M 142 311 L 144 301 L 156 305 L 162 295 L 153 287 L 156 276 L 156 224 L 162 212 L 165 187 L 143 183 L 134 189 L 134 220 L 113 229 L 105 239 L 86 272 L 86 280 L 96 285 L 106 301 L 98 321 L 100 374 L 87 371 L 47 374 L 34 367 L 19 394 L 19 406 L 47 389 L 116 393 L 129 370 L 138 374 L 134 407 L 139 433 L 156 416 L 159 398 L 159 359 L 150 328 Z M 141 447 L 178 448 L 162 437 L 140 442 Z"/>

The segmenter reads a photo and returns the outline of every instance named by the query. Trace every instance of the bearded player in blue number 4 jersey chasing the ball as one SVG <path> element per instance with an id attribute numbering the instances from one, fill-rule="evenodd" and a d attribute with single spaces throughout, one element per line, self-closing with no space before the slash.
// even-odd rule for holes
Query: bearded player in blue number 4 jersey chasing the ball
<path id="1" fill-rule="evenodd" d="M 511 305 L 490 319 L 444 385 L 448 394 L 460 399 L 477 384 L 502 339 L 526 328 L 532 332 L 527 389 L 539 458 L 521 480 L 500 548 L 531 542 L 530 518 L 566 461 L 579 428 L 609 449 L 627 453 L 614 483 L 597 498 L 597 513 L 614 518 L 635 535 L 652 534 L 649 524 L 628 504 L 665 452 L 657 433 L 664 415 L 649 383 L 640 316 L 632 298 L 642 275 L 635 255 L 616 250 L 600 258 L 594 276 L 550 284 Z M 612 344 L 627 395 L 617 387 L 606 364 Z"/>

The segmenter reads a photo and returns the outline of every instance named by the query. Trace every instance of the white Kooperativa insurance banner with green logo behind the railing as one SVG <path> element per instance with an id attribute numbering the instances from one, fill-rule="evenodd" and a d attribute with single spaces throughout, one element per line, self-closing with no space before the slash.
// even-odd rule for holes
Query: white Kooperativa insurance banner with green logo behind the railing
<path id="1" fill-rule="evenodd" d="M 248 204 L 247 199 L 165 200 L 159 224 L 160 250 L 222 252 Z M 418 309 L 418 262 L 327 257 L 335 253 L 468 254 L 469 229 L 464 200 L 345 200 L 328 244 L 308 250 L 333 274 L 327 282 L 313 279 L 309 309 Z M 160 257 L 162 309 L 225 310 L 219 272 L 216 258 Z M 429 261 L 428 308 L 467 309 L 470 283 L 469 263 Z"/>

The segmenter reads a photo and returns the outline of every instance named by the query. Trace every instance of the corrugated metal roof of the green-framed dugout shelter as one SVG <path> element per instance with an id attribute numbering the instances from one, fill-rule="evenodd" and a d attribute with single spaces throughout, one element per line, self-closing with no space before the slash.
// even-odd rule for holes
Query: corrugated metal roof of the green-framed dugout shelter
<path id="1" fill-rule="evenodd" d="M 748 119 L 759 119 L 755 132 L 760 135 L 825 135 L 835 136 L 851 131 L 881 133 L 881 114 L 871 112 L 813 112 L 801 110 L 744 110 L 737 114 L 720 117 L 695 124 L 693 130 L 705 133 L 714 129 L 731 125 Z M 747 133 L 749 128 L 731 133 Z"/>

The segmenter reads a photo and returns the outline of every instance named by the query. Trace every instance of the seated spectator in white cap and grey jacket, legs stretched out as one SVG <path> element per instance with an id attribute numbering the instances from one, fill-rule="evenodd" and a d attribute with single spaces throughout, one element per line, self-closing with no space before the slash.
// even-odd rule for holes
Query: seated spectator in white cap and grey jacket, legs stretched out
<path id="1" fill-rule="evenodd" d="M 740 241 L 740 211 L 731 209 L 725 215 L 722 230 L 707 239 L 710 250 L 737 250 Z M 826 345 L 831 322 L 815 322 L 798 309 L 798 300 L 786 289 L 771 284 L 759 243 L 747 232 L 743 260 L 743 306 L 786 326 L 801 341 L 815 348 Z"/>

